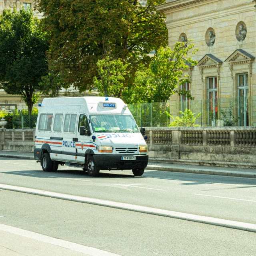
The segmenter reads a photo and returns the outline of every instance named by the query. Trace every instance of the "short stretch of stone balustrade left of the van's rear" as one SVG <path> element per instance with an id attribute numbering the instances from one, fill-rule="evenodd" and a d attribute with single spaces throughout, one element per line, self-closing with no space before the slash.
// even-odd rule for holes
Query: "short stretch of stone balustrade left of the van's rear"
<path id="1" fill-rule="evenodd" d="M 35 129 L 0 129 L 0 150 L 33 152 Z"/>

